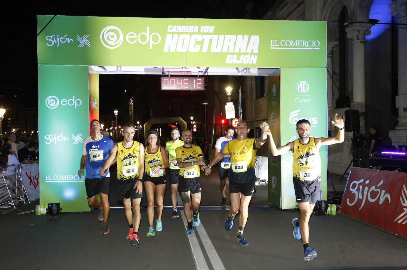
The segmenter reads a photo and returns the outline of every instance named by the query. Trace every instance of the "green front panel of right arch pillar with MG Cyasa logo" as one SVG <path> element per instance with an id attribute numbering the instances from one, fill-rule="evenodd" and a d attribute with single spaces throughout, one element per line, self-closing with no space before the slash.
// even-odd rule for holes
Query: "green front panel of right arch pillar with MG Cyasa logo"
<path id="1" fill-rule="evenodd" d="M 326 137 L 327 126 L 327 96 L 325 68 L 282 68 L 281 79 L 281 141 L 280 145 L 298 138 L 296 122 L 307 119 L 311 123 L 312 137 Z M 278 145 L 278 144 L 277 144 Z M 321 190 L 326 200 L 326 170 L 327 148 L 319 149 L 321 156 Z M 295 208 L 295 193 L 293 186 L 293 154 L 288 152 L 281 156 L 281 208 Z"/>

